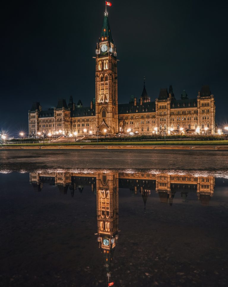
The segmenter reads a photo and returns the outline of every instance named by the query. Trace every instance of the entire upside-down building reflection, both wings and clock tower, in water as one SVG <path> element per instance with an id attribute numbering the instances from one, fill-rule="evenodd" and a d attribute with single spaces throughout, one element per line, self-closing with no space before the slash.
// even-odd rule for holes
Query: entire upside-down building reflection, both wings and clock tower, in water
<path id="1" fill-rule="evenodd" d="M 130 190 L 132 196 L 142 196 L 144 209 L 150 194 L 158 194 L 161 203 L 173 204 L 176 193 L 180 193 L 183 201 L 189 193 L 197 194 L 202 205 L 208 205 L 214 193 L 215 178 L 194 177 L 192 175 L 169 175 L 165 173 L 118 173 L 88 170 L 83 172 L 32 172 L 30 183 L 35 191 L 41 191 L 44 184 L 57 185 L 60 192 L 68 189 L 74 196 L 78 189 L 83 192 L 90 186 L 96 194 L 98 245 L 102 251 L 107 280 L 111 276 L 111 264 L 115 246 L 118 242 L 118 190 Z"/>

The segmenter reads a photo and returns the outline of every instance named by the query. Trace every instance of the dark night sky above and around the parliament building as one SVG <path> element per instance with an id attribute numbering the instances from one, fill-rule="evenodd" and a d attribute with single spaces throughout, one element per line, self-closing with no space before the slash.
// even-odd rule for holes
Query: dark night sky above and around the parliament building
<path id="1" fill-rule="evenodd" d="M 228 122 L 227 1 L 120 1 L 108 7 L 117 47 L 118 102 L 146 90 L 154 101 L 172 84 L 197 97 L 209 84 L 216 123 Z M 3 5 L 3 6 L 2 6 Z M 28 132 L 33 102 L 43 109 L 58 98 L 95 97 L 95 48 L 104 0 L 5 1 L 1 4 L 0 131 Z"/>

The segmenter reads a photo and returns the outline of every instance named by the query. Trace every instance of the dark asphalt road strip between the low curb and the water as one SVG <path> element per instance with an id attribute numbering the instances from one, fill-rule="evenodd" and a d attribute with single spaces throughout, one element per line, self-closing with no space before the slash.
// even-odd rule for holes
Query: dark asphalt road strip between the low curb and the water
<path id="1" fill-rule="evenodd" d="M 228 170 L 228 151 L 0 150 L 0 170 L 39 168 Z"/>

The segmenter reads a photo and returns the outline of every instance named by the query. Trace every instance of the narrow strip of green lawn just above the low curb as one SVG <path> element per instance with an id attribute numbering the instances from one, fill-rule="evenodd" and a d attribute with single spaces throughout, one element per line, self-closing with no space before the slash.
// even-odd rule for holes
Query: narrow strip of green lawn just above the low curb
<path id="1" fill-rule="evenodd" d="M 156 142 L 99 142 L 98 145 L 164 145 L 164 141 Z M 45 145 L 97 145 L 96 142 L 68 142 L 68 143 L 48 143 L 45 142 Z M 186 141 L 166 141 L 166 145 L 228 145 L 228 140 L 186 140 Z M 31 144 L 12 144 L 12 145 L 3 145 L 3 146 L 43 146 L 40 143 L 31 143 Z"/>

